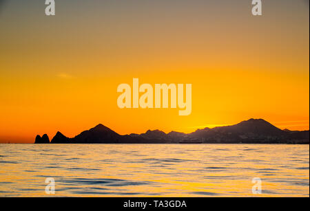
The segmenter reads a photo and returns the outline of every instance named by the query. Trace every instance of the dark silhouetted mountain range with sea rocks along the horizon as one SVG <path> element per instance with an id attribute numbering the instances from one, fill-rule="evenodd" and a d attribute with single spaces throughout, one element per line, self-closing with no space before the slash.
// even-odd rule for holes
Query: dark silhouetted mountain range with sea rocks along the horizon
<path id="1" fill-rule="evenodd" d="M 44 138 L 43 138 L 44 137 Z M 49 143 L 48 136 L 37 135 L 36 144 Z M 262 119 L 250 119 L 231 126 L 198 129 L 194 133 L 147 131 L 119 135 L 99 124 L 76 137 L 57 132 L 51 144 L 309 144 L 309 131 L 281 130 Z"/>

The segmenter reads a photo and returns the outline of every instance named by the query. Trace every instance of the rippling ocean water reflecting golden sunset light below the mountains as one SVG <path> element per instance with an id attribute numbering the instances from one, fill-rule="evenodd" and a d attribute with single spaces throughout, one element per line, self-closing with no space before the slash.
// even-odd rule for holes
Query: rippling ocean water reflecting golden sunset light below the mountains
<path id="1" fill-rule="evenodd" d="M 0 197 L 50 196 L 309 197 L 309 145 L 0 144 Z"/>

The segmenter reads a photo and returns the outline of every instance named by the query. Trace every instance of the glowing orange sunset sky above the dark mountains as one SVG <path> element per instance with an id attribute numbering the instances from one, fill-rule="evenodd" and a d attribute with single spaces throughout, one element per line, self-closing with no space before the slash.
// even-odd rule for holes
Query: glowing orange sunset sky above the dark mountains
<path id="1" fill-rule="evenodd" d="M 0 142 L 96 124 L 189 133 L 263 118 L 309 130 L 309 1 L 0 0 Z M 192 84 L 192 114 L 119 109 L 118 85 Z"/>

